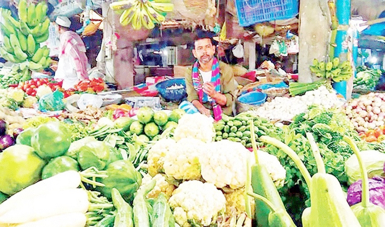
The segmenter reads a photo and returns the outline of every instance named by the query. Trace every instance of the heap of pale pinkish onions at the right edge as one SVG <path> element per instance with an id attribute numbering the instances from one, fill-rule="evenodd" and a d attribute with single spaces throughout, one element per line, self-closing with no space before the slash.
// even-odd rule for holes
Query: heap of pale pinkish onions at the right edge
<path id="1" fill-rule="evenodd" d="M 385 125 L 385 94 L 372 92 L 352 99 L 345 112 L 359 132 Z"/>

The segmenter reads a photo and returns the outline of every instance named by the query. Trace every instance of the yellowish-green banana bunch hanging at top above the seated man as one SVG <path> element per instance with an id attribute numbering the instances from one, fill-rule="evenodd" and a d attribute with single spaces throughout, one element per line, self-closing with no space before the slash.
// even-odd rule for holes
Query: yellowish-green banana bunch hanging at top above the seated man
<path id="1" fill-rule="evenodd" d="M 165 12 L 173 11 L 174 4 L 171 0 L 122 0 L 112 2 L 110 8 L 122 12 L 119 22 L 123 26 L 131 23 L 133 29 L 139 30 L 153 29 L 155 23 L 165 21 Z"/>

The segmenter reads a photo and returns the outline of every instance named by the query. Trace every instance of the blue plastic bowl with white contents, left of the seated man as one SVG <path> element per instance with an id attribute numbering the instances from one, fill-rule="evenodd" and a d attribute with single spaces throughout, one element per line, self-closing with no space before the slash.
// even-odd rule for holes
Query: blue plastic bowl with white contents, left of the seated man
<path id="1" fill-rule="evenodd" d="M 173 85 L 183 85 L 183 88 L 167 89 Z M 183 78 L 162 81 L 157 83 L 155 87 L 157 88 L 160 96 L 168 102 L 181 101 L 187 97 L 186 80 Z"/>

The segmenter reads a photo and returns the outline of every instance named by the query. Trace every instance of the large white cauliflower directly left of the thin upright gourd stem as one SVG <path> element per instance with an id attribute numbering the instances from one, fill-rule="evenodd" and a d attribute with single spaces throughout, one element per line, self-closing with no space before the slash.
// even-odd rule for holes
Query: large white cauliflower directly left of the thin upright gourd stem
<path id="1" fill-rule="evenodd" d="M 244 187 L 250 151 L 241 143 L 229 140 L 212 142 L 208 146 L 210 152 L 203 152 L 199 160 L 202 178 L 217 188 Z"/>

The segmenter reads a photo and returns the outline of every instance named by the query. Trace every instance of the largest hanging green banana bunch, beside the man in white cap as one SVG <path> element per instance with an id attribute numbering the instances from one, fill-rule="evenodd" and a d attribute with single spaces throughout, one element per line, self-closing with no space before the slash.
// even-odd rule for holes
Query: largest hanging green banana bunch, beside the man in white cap
<path id="1" fill-rule="evenodd" d="M 20 0 L 18 20 L 11 16 L 11 11 L 0 9 L 3 17 L 0 29 L 4 38 L 4 44 L 0 47 L 1 57 L 13 63 L 29 61 L 32 70 L 49 66 L 50 50 L 47 47 L 40 48 L 39 45 L 49 36 L 47 9 L 45 1 L 27 6 L 27 0 Z"/>

